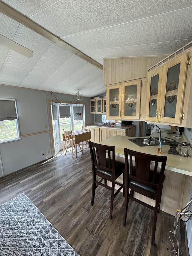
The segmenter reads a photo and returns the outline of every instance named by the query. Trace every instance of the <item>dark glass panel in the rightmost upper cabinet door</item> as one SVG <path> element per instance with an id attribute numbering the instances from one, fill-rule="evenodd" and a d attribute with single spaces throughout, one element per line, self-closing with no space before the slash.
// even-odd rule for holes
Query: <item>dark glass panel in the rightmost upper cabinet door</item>
<path id="1" fill-rule="evenodd" d="M 164 117 L 175 118 L 181 63 L 168 68 Z"/>

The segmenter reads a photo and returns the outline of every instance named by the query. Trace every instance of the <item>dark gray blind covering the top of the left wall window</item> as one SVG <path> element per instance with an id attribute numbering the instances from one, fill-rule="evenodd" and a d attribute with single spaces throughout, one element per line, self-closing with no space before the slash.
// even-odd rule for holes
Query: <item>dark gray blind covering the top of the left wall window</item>
<path id="1" fill-rule="evenodd" d="M 15 100 L 0 100 L 0 121 L 17 119 Z"/>

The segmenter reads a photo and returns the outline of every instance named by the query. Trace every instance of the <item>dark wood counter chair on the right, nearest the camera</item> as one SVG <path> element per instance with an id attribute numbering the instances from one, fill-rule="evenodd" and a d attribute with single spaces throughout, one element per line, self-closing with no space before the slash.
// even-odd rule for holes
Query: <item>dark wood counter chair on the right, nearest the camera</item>
<path id="1" fill-rule="evenodd" d="M 129 199 L 154 210 L 152 242 L 155 243 L 157 215 L 160 209 L 166 156 L 149 155 L 125 148 L 125 208 L 123 226 L 126 224 Z M 128 160 L 129 158 L 129 160 Z M 158 171 L 158 167 L 160 170 Z M 130 192 L 129 192 L 130 189 Z M 134 191 L 155 200 L 155 207 L 134 197 Z"/>

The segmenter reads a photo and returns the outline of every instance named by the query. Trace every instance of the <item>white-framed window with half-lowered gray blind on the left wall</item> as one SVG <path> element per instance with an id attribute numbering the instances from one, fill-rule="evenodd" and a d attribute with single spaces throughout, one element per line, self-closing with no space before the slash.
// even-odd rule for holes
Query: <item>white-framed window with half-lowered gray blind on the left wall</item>
<path id="1" fill-rule="evenodd" d="M 0 98 L 0 143 L 20 140 L 16 100 Z"/>

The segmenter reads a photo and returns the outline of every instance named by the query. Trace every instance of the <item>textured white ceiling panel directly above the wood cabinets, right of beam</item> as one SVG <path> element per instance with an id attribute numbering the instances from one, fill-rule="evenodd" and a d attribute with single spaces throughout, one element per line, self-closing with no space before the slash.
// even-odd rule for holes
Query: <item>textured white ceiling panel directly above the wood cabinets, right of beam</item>
<path id="1" fill-rule="evenodd" d="M 101 50 L 88 50 L 84 52 L 88 56 L 91 56 L 91 58 L 96 59 L 98 62 L 99 59 L 102 58 L 102 56 L 106 56 L 105 58 L 112 58 L 130 56 L 169 55 L 174 51 L 178 50 L 179 48 L 181 48 L 182 46 L 184 46 L 185 44 L 189 43 L 190 41 L 192 41 L 192 38 L 188 40 L 170 41 L 165 43 L 141 44 Z"/>

